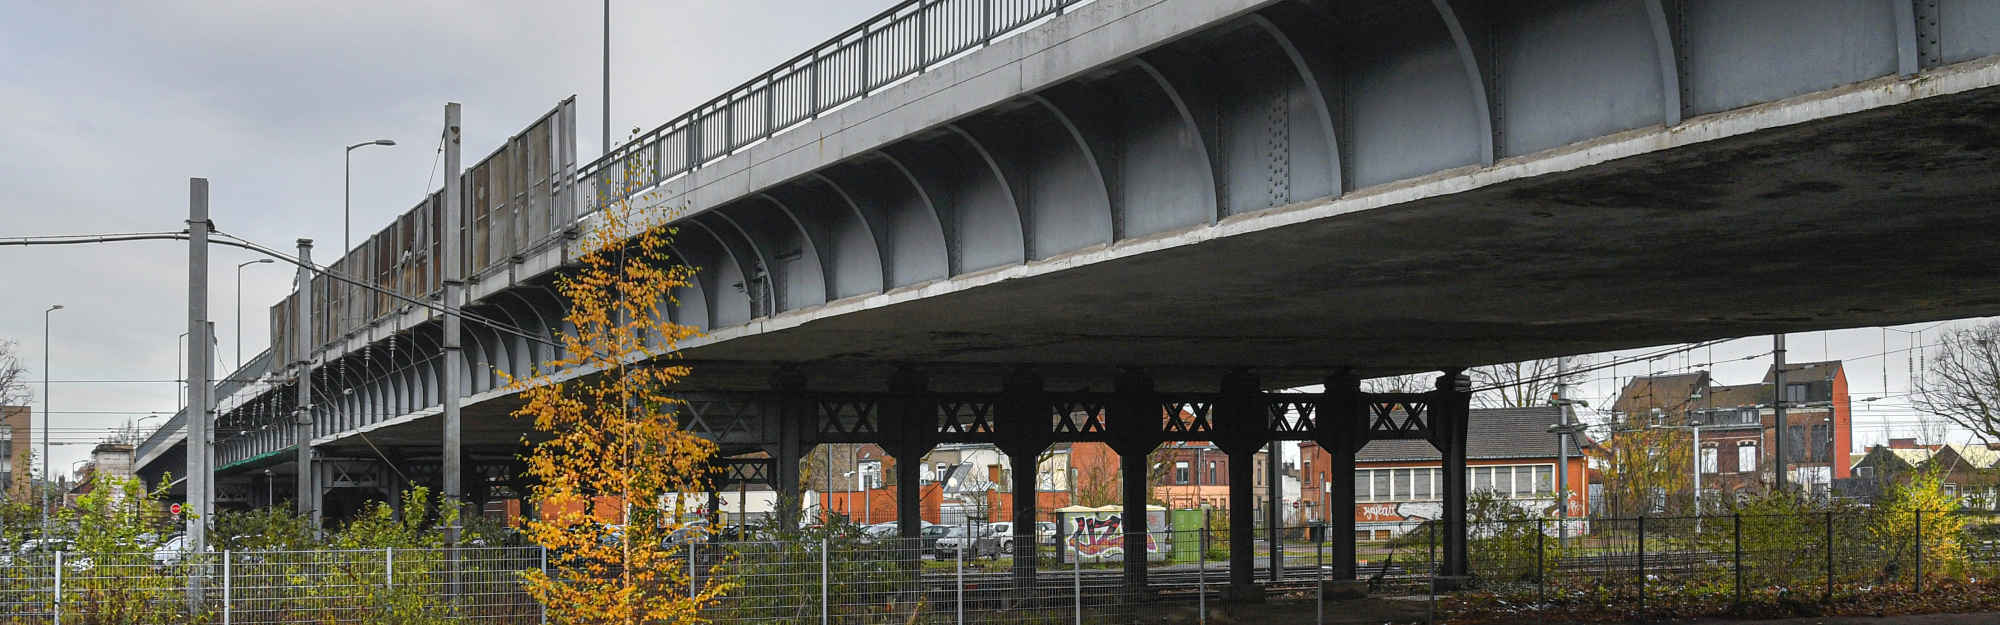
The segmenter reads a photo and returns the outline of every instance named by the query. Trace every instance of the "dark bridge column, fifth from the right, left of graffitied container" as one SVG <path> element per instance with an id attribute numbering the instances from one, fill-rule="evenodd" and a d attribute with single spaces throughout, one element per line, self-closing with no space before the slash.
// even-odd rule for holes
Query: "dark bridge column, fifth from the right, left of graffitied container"
<path id="1" fill-rule="evenodd" d="M 1048 401 L 1042 397 L 1042 373 L 1032 367 L 1016 369 L 1000 383 L 1000 405 L 994 407 L 994 423 L 1000 431 L 1000 453 L 1008 457 L 1012 471 L 1014 591 L 1022 599 L 1030 599 L 1036 587 L 1034 575 L 1040 553 L 1040 535 L 1034 525 L 1038 521 L 1036 471 L 1040 471 L 1042 453 L 1050 445 L 1050 417 Z"/>

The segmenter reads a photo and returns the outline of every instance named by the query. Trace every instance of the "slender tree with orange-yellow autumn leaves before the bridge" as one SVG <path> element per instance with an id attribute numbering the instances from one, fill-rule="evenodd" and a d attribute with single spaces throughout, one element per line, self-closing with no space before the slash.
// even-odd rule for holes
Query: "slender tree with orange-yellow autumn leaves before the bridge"
<path id="1" fill-rule="evenodd" d="M 572 327 L 562 357 L 510 385 L 524 401 L 514 417 L 548 437 L 528 457 L 542 515 L 526 529 L 550 571 L 526 585 L 552 623 L 698 623 L 728 583 L 690 593 L 672 537 L 688 533 L 680 493 L 706 491 L 716 447 L 678 427 L 670 389 L 688 367 L 662 363 L 698 335 L 662 310 L 694 270 L 668 262 L 674 230 L 658 214 L 622 200 L 598 216 L 582 268 L 558 282 Z"/>

